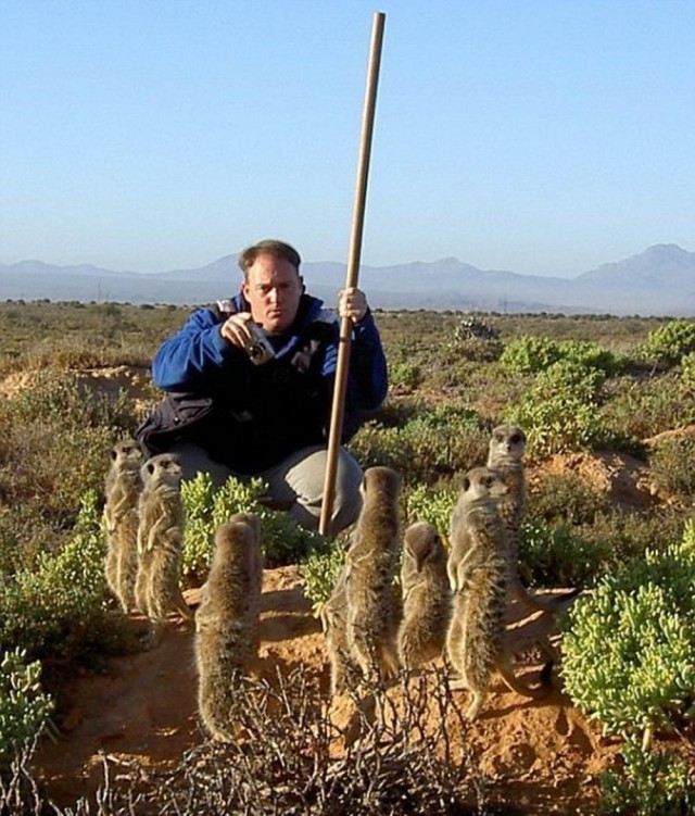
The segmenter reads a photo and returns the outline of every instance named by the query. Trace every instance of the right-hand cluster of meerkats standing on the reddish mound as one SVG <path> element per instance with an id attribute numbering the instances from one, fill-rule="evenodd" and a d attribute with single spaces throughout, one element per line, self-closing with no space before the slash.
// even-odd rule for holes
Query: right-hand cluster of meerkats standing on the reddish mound
<path id="1" fill-rule="evenodd" d="M 526 509 L 523 431 L 496 427 L 486 466 L 469 470 L 451 516 L 448 554 L 438 530 L 417 522 L 403 536 L 402 616 L 395 622 L 392 583 L 399 555 L 401 478 L 371 467 L 363 510 L 344 567 L 321 611 L 331 664 L 331 692 L 383 688 L 400 668 L 418 669 L 443 656 L 452 689 L 468 689 L 473 719 L 498 671 L 507 686 L 539 699 L 551 689 L 553 649 L 541 686 L 517 678 L 506 646 L 505 615 L 514 598 L 533 611 L 557 612 L 577 592 L 552 600 L 530 593 L 518 575 L 519 528 Z"/>

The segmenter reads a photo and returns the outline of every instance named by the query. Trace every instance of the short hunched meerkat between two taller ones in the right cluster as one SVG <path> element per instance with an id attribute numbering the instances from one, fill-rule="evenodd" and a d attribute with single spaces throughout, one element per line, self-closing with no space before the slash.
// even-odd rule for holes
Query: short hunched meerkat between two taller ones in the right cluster
<path id="1" fill-rule="evenodd" d="M 451 612 L 446 551 L 427 522 L 417 522 L 405 531 L 401 589 L 399 656 L 405 668 L 418 668 L 442 653 Z"/>

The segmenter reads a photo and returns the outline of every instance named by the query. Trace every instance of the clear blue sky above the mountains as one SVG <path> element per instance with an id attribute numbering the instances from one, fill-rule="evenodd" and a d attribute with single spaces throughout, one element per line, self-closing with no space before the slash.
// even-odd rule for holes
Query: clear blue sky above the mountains
<path id="1" fill-rule="evenodd" d="M 693 0 L 0 0 L 0 262 L 345 262 L 376 11 L 363 263 L 695 251 Z"/>

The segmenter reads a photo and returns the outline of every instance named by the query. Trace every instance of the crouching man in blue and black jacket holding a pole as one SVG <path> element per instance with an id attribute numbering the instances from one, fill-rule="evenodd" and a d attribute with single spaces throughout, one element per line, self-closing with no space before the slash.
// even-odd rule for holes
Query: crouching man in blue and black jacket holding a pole
<path id="1" fill-rule="evenodd" d="M 264 240 L 239 256 L 241 292 L 191 314 L 166 340 L 153 382 L 166 391 L 137 430 L 148 455 L 179 454 L 185 478 L 260 476 L 270 506 L 318 526 L 338 359 L 338 316 L 304 292 L 296 250 Z M 353 324 L 343 438 L 377 409 L 388 387 L 379 332 L 359 289 L 340 292 L 338 315 Z M 362 469 L 343 449 L 336 474 L 332 532 L 361 507 Z"/>

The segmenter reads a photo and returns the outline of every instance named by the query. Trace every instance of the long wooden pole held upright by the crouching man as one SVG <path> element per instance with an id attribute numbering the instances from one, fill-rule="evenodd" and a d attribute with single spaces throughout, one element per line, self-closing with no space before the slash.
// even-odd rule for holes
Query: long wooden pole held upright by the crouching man
<path id="1" fill-rule="evenodd" d="M 359 255 L 362 252 L 362 234 L 365 223 L 365 201 L 367 198 L 367 177 L 369 175 L 369 158 L 371 155 L 371 135 L 374 133 L 374 113 L 377 104 L 377 85 L 379 81 L 379 65 L 381 63 L 381 42 L 383 41 L 383 24 L 387 15 L 376 12 L 371 26 L 371 47 L 369 49 L 369 65 L 367 70 L 367 88 L 362 116 L 362 137 L 359 140 L 359 161 L 357 165 L 357 183 L 355 186 L 355 201 L 353 206 L 352 235 L 350 254 L 348 258 L 348 275 L 345 289 L 357 286 L 359 275 Z M 352 321 L 343 317 L 340 322 L 340 339 L 338 343 L 338 363 L 336 366 L 336 384 L 333 387 L 333 403 L 330 416 L 328 437 L 328 457 L 326 462 L 326 480 L 324 482 L 324 499 L 319 532 L 331 535 L 331 517 L 333 498 L 336 493 L 336 469 L 340 452 L 340 439 L 343 430 L 345 413 L 345 391 L 350 368 L 350 343 L 352 340 Z"/>

